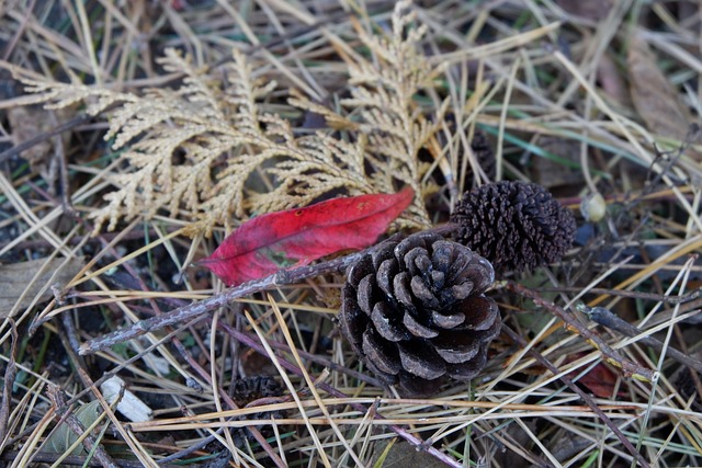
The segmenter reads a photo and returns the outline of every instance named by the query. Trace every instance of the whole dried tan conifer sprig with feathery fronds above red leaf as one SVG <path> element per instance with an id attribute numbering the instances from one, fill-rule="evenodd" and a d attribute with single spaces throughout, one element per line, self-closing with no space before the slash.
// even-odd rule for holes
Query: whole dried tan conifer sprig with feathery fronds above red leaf
<path id="1" fill-rule="evenodd" d="M 344 56 L 351 98 L 342 105 L 360 119 L 346 140 L 322 132 L 297 135 L 288 121 L 265 112 L 261 103 L 276 83 L 257 76 L 236 50 L 230 62 L 213 70 L 167 49 L 159 62 L 166 72 L 183 76 L 182 82 L 139 94 L 19 79 L 34 93 L 33 102 L 50 109 L 80 102 L 89 115 L 112 109 L 105 139 L 125 149 L 118 158 L 126 164 L 115 164 L 122 172 L 105 175 L 116 190 L 89 214 L 94 233 L 103 226 L 115 229 L 120 220 L 168 210 L 195 222 L 190 233 L 211 235 L 233 216 L 305 206 L 331 193 L 393 193 L 404 185 L 417 196 L 400 224 L 426 228 L 430 221 L 421 181 L 430 165 L 418 156 L 441 125 L 449 101 L 431 118 L 415 102 L 418 92 L 433 87 L 440 68 L 428 66 L 419 50 L 426 27 L 411 27 L 409 5 L 398 3 L 388 37 L 360 31 L 374 60 Z M 349 122 L 318 104 L 308 106 L 330 126 Z"/>

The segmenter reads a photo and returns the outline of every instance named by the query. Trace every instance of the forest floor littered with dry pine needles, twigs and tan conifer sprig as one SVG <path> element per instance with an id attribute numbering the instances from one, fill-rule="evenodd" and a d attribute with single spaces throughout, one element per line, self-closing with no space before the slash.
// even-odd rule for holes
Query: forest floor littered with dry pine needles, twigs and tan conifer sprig
<path id="1" fill-rule="evenodd" d="M 0 4 L 0 465 L 702 466 L 700 37 L 683 0 Z M 440 231 L 497 180 L 575 239 L 498 272 L 487 364 L 430 396 L 340 332 L 350 251 L 194 265 L 405 186 L 387 235 Z"/>

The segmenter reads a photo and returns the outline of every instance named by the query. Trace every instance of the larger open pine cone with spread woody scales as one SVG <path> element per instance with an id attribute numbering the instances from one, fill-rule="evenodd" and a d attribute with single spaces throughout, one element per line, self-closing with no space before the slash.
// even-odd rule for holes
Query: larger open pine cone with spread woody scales
<path id="1" fill-rule="evenodd" d="M 483 293 L 490 263 L 430 232 L 386 240 L 349 272 L 341 331 L 365 365 L 405 393 L 431 395 L 441 378 L 474 378 L 502 322 Z"/>

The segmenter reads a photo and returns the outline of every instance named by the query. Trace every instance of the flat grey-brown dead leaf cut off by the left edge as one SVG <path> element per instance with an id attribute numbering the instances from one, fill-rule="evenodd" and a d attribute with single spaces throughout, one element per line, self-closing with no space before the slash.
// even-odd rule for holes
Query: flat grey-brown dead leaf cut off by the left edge
<path id="1" fill-rule="evenodd" d="M 12 317 L 20 309 L 30 306 L 48 282 L 58 284 L 59 288 L 68 284 L 84 264 L 83 258 L 79 256 L 68 261 L 39 259 L 0 265 L 0 319 Z M 39 272 L 38 276 L 32 281 L 37 272 Z M 38 303 L 53 297 L 52 289 L 46 288 L 39 296 Z"/>

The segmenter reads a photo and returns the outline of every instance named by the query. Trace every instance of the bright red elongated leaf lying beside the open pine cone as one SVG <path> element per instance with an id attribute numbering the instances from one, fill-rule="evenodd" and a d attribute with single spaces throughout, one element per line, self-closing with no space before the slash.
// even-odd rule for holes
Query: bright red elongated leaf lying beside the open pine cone
<path id="1" fill-rule="evenodd" d="M 197 265 L 234 286 L 340 250 L 363 249 L 385 232 L 414 196 L 415 191 L 406 187 L 392 195 L 335 198 L 261 215 L 242 224 Z"/>

